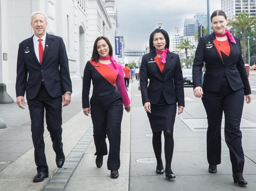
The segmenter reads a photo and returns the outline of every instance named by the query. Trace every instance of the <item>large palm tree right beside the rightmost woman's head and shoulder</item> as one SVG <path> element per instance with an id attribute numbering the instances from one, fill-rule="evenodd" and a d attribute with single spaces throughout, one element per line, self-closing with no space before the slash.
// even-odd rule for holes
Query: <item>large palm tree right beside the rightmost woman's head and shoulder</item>
<path id="1" fill-rule="evenodd" d="M 245 32 L 248 27 L 255 25 L 255 17 L 250 17 L 250 14 L 245 12 L 238 13 L 237 16 L 234 16 L 234 20 L 230 20 L 228 25 L 235 27 L 236 29 L 242 32 L 242 52 L 243 52 L 243 61 L 246 63 L 246 42 L 245 42 Z"/>

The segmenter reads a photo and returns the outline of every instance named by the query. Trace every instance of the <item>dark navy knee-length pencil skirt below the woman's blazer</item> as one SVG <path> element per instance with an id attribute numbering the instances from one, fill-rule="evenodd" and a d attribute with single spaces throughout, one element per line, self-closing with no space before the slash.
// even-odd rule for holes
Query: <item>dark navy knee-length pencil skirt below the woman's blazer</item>
<path id="1" fill-rule="evenodd" d="M 177 104 L 167 104 L 161 93 L 158 104 L 151 104 L 151 113 L 147 112 L 152 132 L 173 131 Z"/>

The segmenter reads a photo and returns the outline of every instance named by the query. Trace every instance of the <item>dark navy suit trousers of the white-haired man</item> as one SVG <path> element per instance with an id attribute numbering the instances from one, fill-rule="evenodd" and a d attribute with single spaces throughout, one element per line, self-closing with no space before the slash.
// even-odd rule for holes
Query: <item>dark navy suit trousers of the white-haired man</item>
<path id="1" fill-rule="evenodd" d="M 51 97 L 45 85 L 41 85 L 40 90 L 35 98 L 28 100 L 28 109 L 30 111 L 32 140 L 35 148 L 35 164 L 37 172 L 48 173 L 48 166 L 45 157 L 44 142 L 44 115 L 46 118 L 47 129 L 52 139 L 52 147 L 58 155 L 62 151 L 61 142 L 62 134 L 62 97 Z"/>

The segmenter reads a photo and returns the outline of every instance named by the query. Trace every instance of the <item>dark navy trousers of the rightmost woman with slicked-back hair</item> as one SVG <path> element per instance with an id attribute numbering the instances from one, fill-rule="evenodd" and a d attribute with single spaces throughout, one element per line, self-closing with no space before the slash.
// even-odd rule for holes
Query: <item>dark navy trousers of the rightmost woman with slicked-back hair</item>
<path id="1" fill-rule="evenodd" d="M 240 123 L 244 104 L 244 91 L 233 91 L 228 81 L 222 82 L 217 92 L 203 90 L 202 102 L 208 119 L 207 159 L 209 164 L 221 163 L 221 120 L 224 111 L 225 142 L 229 148 L 232 171 L 243 173 L 245 158 L 242 148 Z"/>

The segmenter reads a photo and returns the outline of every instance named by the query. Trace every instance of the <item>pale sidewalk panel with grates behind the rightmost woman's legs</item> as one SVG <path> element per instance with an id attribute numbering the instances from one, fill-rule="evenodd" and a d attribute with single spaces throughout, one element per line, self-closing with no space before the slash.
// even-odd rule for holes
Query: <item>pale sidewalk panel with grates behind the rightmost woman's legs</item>
<path id="1" fill-rule="evenodd" d="M 206 117 L 179 117 L 184 124 L 186 124 L 192 131 L 206 131 L 208 127 Z M 221 130 L 224 130 L 225 118 L 222 118 Z M 245 118 L 241 119 L 241 130 L 256 130 L 256 123 L 249 121 Z"/>

